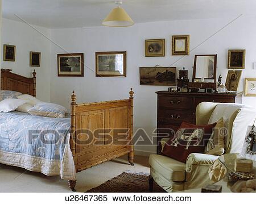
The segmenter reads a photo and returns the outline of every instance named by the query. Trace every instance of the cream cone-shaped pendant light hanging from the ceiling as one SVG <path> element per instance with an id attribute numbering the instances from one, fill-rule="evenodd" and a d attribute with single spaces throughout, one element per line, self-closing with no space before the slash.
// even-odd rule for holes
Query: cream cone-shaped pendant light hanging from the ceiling
<path id="1" fill-rule="evenodd" d="M 109 27 L 133 26 L 134 22 L 126 11 L 121 7 L 122 1 L 115 1 L 117 7 L 113 9 L 103 20 L 102 24 Z"/>

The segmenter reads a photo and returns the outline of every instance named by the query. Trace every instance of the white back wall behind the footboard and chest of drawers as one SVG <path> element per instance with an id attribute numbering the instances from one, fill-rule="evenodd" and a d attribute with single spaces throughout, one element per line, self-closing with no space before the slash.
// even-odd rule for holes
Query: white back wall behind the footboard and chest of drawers
<path id="1" fill-rule="evenodd" d="M 256 17 L 242 16 L 224 28 L 200 47 L 197 47 L 233 19 L 183 20 L 135 24 L 128 28 L 70 28 L 51 31 L 52 39 L 68 52 L 85 53 L 85 77 L 57 77 L 57 53 L 65 53 L 51 45 L 51 101 L 69 106 L 71 91 L 75 90 L 78 102 L 105 101 L 127 98 L 131 87 L 135 92 L 134 126 L 148 133 L 156 127 L 155 91 L 167 89 L 163 86 L 140 86 L 139 66 L 185 66 L 192 78 L 192 65 L 196 54 L 216 54 L 217 74 L 225 82 L 228 49 L 246 49 L 246 69 L 243 70 L 240 90 L 245 77 L 256 77 L 253 62 L 256 61 Z M 191 53 L 171 56 L 171 35 L 191 35 Z M 144 57 L 144 39 L 165 38 L 166 57 Z M 197 47 L 195 50 L 193 48 Z M 95 77 L 95 52 L 127 51 L 127 77 Z M 243 102 L 255 106 L 256 98 L 243 97 Z M 152 134 L 150 133 L 152 136 Z M 154 152 L 155 147 L 135 147 L 137 150 Z"/>

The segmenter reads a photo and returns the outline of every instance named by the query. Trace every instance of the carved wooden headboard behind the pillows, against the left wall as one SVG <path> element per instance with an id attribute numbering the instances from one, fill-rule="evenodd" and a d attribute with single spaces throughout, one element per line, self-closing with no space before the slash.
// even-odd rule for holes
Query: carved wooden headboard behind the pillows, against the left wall
<path id="1" fill-rule="evenodd" d="M 1 69 L 1 90 L 19 91 L 23 94 L 36 96 L 36 72 L 32 78 L 14 74 L 11 69 Z"/>

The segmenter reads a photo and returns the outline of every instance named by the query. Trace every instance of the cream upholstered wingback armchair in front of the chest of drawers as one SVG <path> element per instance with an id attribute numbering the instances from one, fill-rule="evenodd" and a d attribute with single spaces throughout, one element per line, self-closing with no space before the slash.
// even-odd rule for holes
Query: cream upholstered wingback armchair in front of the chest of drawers
<path id="1" fill-rule="evenodd" d="M 197 106 L 196 122 L 199 125 L 214 123 L 222 117 L 225 118 L 225 127 L 228 128 L 225 153 L 240 153 L 247 127 L 253 124 L 256 111 L 236 103 L 203 102 Z M 165 141 L 163 140 L 162 143 Z M 150 155 L 148 160 L 150 190 L 153 190 L 154 181 L 168 192 L 201 188 L 206 184 L 212 184 L 208 170 L 217 158 L 218 156 L 214 155 L 192 153 L 184 164 L 170 157 Z"/>

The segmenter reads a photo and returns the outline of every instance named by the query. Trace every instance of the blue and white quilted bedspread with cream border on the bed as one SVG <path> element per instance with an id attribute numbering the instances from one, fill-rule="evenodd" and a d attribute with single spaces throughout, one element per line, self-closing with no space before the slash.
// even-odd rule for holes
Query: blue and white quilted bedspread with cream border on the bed
<path id="1" fill-rule="evenodd" d="M 0 163 L 76 180 L 70 118 L 0 113 Z"/>

